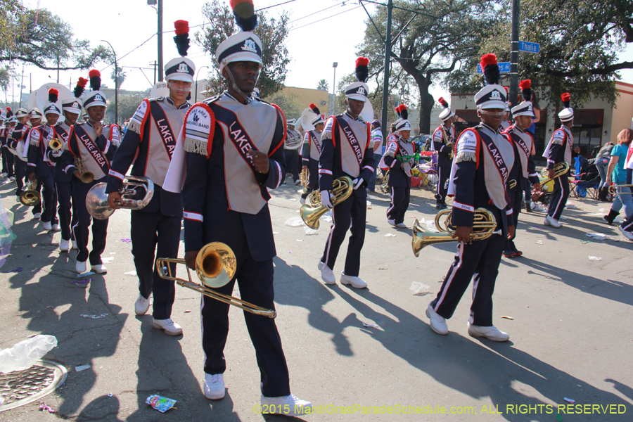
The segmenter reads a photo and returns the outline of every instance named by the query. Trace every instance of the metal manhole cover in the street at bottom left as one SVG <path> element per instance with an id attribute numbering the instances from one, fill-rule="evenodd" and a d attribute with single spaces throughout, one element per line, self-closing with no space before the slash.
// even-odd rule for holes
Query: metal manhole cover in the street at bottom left
<path id="1" fill-rule="evenodd" d="M 55 362 L 37 361 L 29 369 L 0 373 L 0 411 L 15 409 L 49 395 L 66 381 L 66 369 Z"/>

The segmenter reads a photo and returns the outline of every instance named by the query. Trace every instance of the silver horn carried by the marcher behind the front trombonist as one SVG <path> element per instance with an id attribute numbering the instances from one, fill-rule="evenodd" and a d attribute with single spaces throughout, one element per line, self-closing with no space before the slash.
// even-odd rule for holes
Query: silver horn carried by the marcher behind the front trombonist
<path id="1" fill-rule="evenodd" d="M 108 205 L 108 193 L 106 183 L 98 183 L 90 188 L 86 196 L 86 207 L 90 215 L 96 219 L 107 219 L 115 210 Z M 136 199 L 141 194 L 143 199 Z M 150 179 L 139 176 L 126 176 L 123 187 L 119 189 L 122 200 L 116 200 L 116 204 L 127 210 L 141 210 L 152 200 L 154 196 L 154 184 Z"/>

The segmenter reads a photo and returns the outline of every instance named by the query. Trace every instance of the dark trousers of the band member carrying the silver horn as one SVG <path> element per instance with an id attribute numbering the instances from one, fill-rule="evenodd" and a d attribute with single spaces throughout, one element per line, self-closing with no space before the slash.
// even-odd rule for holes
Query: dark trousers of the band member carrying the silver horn
<path id="1" fill-rule="evenodd" d="M 167 319 L 172 315 L 176 296 L 174 281 L 161 279 L 155 265 L 155 256 L 175 258 L 180 243 L 181 217 L 162 215 L 158 212 L 132 211 L 132 255 L 136 275 L 139 276 L 139 292 L 148 299 L 153 293 L 154 319 Z M 154 256 L 154 251 L 156 255 Z M 175 274 L 175 264 L 172 274 Z"/>

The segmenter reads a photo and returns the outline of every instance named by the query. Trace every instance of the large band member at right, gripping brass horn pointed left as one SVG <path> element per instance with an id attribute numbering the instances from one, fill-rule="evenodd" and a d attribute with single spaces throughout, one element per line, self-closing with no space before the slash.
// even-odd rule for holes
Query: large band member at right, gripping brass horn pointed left
<path id="1" fill-rule="evenodd" d="M 487 83 L 475 94 L 481 123 L 459 136 L 449 183 L 449 195 L 454 196 L 452 226 L 460 243 L 437 298 L 428 305 L 426 316 L 435 333 L 446 335 L 446 319 L 453 316 L 474 275 L 468 334 L 506 341 L 509 335 L 492 325 L 492 292 L 505 237 L 514 232 L 512 207 L 506 192 L 514 154 L 511 144 L 499 134 L 506 91 L 499 85 L 497 57 L 494 54 L 482 56 L 481 68 Z M 502 229 L 504 235 L 493 234 L 471 243 L 476 208 L 492 212 L 497 229 Z"/>

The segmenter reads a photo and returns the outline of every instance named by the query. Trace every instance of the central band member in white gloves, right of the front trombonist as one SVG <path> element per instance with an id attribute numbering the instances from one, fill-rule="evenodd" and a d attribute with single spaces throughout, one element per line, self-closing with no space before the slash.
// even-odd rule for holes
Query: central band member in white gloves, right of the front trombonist
<path id="1" fill-rule="evenodd" d="M 340 282 L 350 284 L 354 288 L 367 287 L 367 283 L 358 275 L 360 252 L 365 240 L 365 217 L 367 214 L 365 186 L 367 186 L 375 167 L 373 149 L 369 142 L 369 123 L 360 117 L 365 101 L 369 101 L 367 98 L 369 87 L 365 83 L 368 75 L 368 64 L 368 58 L 357 58 L 356 77 L 359 82 L 352 82 L 345 87 L 347 111 L 328 118 L 323 134 L 321 134 L 323 150 L 319 161 L 321 205 L 332 210 L 330 234 L 323 256 L 318 263 L 321 279 L 326 284 L 336 283 L 332 269 L 347 229 L 350 229 L 352 236 L 350 236 L 350 243 L 347 246 L 345 269 L 340 274 Z M 354 187 L 352 196 L 341 203 L 332 205 L 330 193 L 332 182 L 343 176 L 352 179 Z"/>

